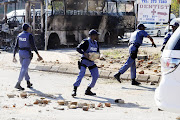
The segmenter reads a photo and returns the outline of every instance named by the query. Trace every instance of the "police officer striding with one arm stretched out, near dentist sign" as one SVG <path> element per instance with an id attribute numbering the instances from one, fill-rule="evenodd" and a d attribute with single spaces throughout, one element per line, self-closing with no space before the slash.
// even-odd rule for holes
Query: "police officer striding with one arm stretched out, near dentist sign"
<path id="1" fill-rule="evenodd" d="M 152 46 L 156 47 L 153 39 L 145 32 L 145 26 L 143 24 L 139 24 L 137 26 L 137 30 L 132 33 L 130 41 L 129 41 L 129 53 L 130 56 L 127 62 L 124 64 L 122 68 L 120 68 L 119 72 L 114 75 L 114 77 L 121 83 L 120 75 L 126 72 L 126 70 L 131 67 L 131 79 L 132 85 L 139 85 L 141 83 L 135 80 L 136 78 L 136 63 L 135 59 L 137 58 L 138 48 L 141 46 L 143 42 L 143 37 L 148 37 L 152 42 Z"/>

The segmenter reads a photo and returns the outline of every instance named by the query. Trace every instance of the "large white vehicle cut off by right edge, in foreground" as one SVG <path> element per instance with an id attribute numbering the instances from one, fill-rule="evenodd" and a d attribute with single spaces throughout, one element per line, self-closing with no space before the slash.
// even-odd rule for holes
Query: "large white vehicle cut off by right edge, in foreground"
<path id="1" fill-rule="evenodd" d="M 162 80 L 155 91 L 161 110 L 180 113 L 180 27 L 169 39 L 161 58 Z"/>

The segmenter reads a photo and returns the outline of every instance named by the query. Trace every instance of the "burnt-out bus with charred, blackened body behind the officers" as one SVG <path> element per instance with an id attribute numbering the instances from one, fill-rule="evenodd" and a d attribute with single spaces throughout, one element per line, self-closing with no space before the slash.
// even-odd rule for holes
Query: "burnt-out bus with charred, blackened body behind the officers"
<path id="1" fill-rule="evenodd" d="M 90 29 L 99 42 L 117 44 L 118 37 L 135 29 L 134 0 L 51 0 L 47 21 L 47 48 L 77 45 Z"/>

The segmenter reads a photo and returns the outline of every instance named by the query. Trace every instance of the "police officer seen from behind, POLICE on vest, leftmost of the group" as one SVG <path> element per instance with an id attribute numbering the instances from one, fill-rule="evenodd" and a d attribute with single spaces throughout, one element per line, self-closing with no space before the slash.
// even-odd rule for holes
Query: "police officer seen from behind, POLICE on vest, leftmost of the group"
<path id="1" fill-rule="evenodd" d="M 22 27 L 23 27 L 23 32 L 17 36 L 17 40 L 14 48 L 14 57 L 13 57 L 13 62 L 17 62 L 15 55 L 19 49 L 21 71 L 19 74 L 18 82 L 15 86 L 15 88 L 19 90 L 24 90 L 24 88 L 21 87 L 21 81 L 23 80 L 24 77 L 25 80 L 27 81 L 27 87 L 28 88 L 32 87 L 32 84 L 30 83 L 30 77 L 28 74 L 28 67 L 33 57 L 31 50 L 34 50 L 38 56 L 38 59 L 42 60 L 42 57 L 39 55 L 37 48 L 35 46 L 34 38 L 30 33 L 31 31 L 30 26 L 28 24 L 24 24 Z"/>

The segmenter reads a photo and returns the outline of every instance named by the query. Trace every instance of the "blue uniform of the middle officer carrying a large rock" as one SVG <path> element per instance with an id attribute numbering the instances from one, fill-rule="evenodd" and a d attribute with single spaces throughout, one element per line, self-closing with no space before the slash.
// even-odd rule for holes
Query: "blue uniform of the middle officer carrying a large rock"
<path id="1" fill-rule="evenodd" d="M 90 38 L 88 38 L 81 42 L 81 44 L 77 47 L 77 51 L 83 55 L 82 55 L 79 76 L 77 77 L 76 82 L 74 83 L 74 86 L 78 87 L 80 85 L 81 80 L 85 75 L 86 68 L 88 67 L 92 76 L 92 82 L 89 84 L 89 87 L 92 88 L 96 84 L 96 81 L 99 77 L 99 72 L 94 61 L 91 61 L 85 58 L 84 53 L 99 52 L 99 45 L 97 41 L 93 41 Z"/>

